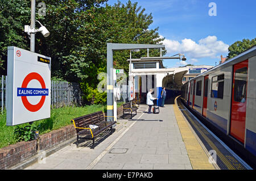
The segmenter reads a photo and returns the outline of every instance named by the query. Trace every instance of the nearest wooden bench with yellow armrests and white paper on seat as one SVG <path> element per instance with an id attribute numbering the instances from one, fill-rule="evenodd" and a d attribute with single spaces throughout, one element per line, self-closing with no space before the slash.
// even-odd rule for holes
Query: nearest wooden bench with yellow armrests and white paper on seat
<path id="1" fill-rule="evenodd" d="M 113 117 L 114 120 L 111 120 L 110 117 Z M 104 116 L 102 111 L 98 111 L 89 115 L 77 117 L 71 120 L 71 123 L 73 123 L 76 128 L 77 148 L 79 147 L 79 138 L 81 138 L 92 140 L 94 149 L 94 138 L 108 128 L 110 128 L 110 134 L 112 134 L 112 126 L 117 123 L 117 120 L 114 116 Z M 98 127 L 92 129 L 90 128 L 90 125 L 97 125 Z"/>

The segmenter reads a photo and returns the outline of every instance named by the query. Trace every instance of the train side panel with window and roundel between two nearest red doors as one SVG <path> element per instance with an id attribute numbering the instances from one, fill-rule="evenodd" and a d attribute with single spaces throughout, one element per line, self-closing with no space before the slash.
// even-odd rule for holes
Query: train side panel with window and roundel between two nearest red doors
<path id="1" fill-rule="evenodd" d="M 207 118 L 225 134 L 229 134 L 232 71 L 229 66 L 209 74 Z"/>

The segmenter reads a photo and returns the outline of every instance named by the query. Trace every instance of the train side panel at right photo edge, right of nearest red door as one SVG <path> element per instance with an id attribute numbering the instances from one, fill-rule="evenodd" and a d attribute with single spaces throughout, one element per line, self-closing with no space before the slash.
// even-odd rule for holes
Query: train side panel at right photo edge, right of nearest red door
<path id="1" fill-rule="evenodd" d="M 245 148 L 256 155 L 256 56 L 249 58 L 248 68 Z"/>

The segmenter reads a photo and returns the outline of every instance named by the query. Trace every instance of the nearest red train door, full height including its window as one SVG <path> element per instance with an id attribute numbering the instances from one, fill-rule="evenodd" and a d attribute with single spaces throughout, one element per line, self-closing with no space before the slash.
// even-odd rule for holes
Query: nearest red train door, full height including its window
<path id="1" fill-rule="evenodd" d="M 248 60 L 233 67 L 230 135 L 244 143 Z"/>

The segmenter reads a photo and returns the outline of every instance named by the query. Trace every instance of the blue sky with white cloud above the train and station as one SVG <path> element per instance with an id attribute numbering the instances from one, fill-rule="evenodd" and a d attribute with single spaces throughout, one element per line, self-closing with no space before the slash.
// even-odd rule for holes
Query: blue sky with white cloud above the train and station
<path id="1" fill-rule="evenodd" d="M 128 0 L 121 0 L 126 3 Z M 114 5 L 117 0 L 109 0 Z M 152 12 L 159 35 L 166 38 L 167 55 L 183 53 L 186 62 L 164 60 L 167 68 L 185 64 L 215 65 L 221 54 L 228 55 L 228 47 L 242 39 L 256 37 L 255 0 L 131 0 Z M 209 16 L 209 3 L 216 4 L 216 16 Z"/>

